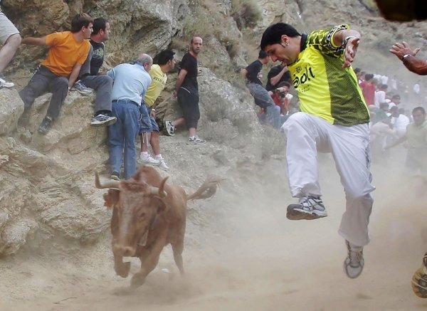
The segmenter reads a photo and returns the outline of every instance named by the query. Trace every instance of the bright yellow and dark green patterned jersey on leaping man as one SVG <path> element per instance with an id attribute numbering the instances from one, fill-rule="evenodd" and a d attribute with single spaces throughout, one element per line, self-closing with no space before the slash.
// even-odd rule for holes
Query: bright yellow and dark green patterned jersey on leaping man
<path id="1" fill-rule="evenodd" d="M 369 122 L 356 74 L 351 67 L 342 68 L 344 48 L 333 41 L 337 31 L 348 28 L 343 24 L 302 35 L 301 52 L 295 63 L 288 65 L 300 110 L 344 126 Z"/>

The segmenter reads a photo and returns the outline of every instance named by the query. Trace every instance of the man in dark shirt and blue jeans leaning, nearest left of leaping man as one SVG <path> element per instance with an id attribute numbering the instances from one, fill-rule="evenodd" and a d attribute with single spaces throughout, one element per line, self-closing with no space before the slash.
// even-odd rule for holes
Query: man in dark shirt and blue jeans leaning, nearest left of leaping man
<path id="1" fill-rule="evenodd" d="M 258 59 L 253 63 L 243 68 L 241 71 L 242 77 L 246 81 L 246 86 L 251 92 L 255 105 L 263 108 L 265 117 L 268 123 L 275 128 L 280 127 L 280 107 L 276 106 L 273 102 L 273 98 L 268 94 L 268 91 L 263 87 L 263 65 L 268 63 L 268 55 L 264 51 L 260 51 Z"/>

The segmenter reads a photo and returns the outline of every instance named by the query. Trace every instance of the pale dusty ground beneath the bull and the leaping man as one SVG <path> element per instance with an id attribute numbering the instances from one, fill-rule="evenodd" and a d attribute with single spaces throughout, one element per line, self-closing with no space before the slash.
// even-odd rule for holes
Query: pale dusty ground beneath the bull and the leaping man
<path id="1" fill-rule="evenodd" d="M 399 181 L 402 166 L 394 166 L 393 175 L 385 167 L 373 169 L 372 241 L 364 272 L 350 280 L 337 234 L 344 195 L 332 162 L 321 160 L 327 218 L 288 221 L 288 194 L 270 196 L 274 186 L 263 182 L 262 200 L 253 206 L 230 202 L 233 212 L 220 221 L 228 223 L 226 231 L 216 231 L 220 226 L 212 219 L 199 243 L 187 245 L 186 278 L 168 248 L 145 285 L 132 295 L 115 295 L 130 280 L 114 275 L 106 235 L 104 243 L 72 255 L 21 253 L 1 260 L 0 310 L 426 310 L 410 280 L 427 250 L 427 209 L 411 185 Z M 131 273 L 137 269 L 132 263 Z"/>

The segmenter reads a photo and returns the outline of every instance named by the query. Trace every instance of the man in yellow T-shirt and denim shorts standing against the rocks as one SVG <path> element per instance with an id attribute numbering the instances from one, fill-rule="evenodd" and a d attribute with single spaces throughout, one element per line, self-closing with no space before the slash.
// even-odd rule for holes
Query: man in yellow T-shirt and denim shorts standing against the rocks
<path id="1" fill-rule="evenodd" d="M 144 164 L 157 165 L 160 169 L 167 171 L 169 167 L 160 154 L 159 126 L 156 122 L 156 110 L 154 102 L 159 97 L 167 82 L 167 75 L 175 67 L 174 52 L 165 50 L 157 54 L 154 58 L 156 64 L 152 65 L 149 75 L 152 84 L 149 85 L 147 93 L 140 107 L 141 124 L 139 133 L 141 134 L 141 155 L 140 159 Z M 148 153 L 147 142 L 152 146 L 154 158 Z"/>

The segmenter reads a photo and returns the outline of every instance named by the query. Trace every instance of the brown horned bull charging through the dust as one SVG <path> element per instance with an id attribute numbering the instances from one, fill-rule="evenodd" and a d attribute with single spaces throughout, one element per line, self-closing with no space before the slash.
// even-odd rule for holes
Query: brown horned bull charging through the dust
<path id="1" fill-rule="evenodd" d="M 111 233 L 115 272 L 122 278 L 129 275 L 130 262 L 123 263 L 125 256 L 141 260 L 141 269 L 132 277 L 132 288 L 144 283 L 159 262 L 162 249 L 169 243 L 179 272 L 184 274 L 186 202 L 213 196 L 220 180 L 206 181 L 190 196 L 180 186 L 168 185 L 166 181 L 167 177 L 162 179 L 152 167 L 140 168 L 125 181 L 104 184 L 95 173 L 95 186 L 110 188 L 104 194 L 104 205 L 113 208 Z"/>

